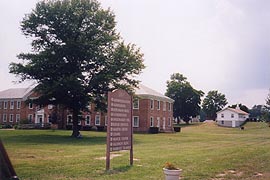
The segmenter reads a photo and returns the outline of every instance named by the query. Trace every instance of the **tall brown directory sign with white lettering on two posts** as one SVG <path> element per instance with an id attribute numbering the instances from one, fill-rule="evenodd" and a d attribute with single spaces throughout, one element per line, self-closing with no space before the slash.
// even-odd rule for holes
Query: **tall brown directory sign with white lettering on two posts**
<path id="1" fill-rule="evenodd" d="M 110 152 L 130 150 L 133 165 L 132 97 L 118 89 L 108 94 L 106 170 L 110 169 Z"/>

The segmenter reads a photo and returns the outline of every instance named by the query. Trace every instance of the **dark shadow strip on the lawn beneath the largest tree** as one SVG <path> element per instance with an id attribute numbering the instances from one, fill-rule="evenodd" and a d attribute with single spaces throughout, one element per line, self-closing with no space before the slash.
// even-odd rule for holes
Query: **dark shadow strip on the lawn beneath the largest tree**
<path id="1" fill-rule="evenodd" d="M 68 135 L 59 134 L 20 134 L 7 136 L 2 138 L 6 144 L 61 144 L 61 145 L 102 145 L 106 144 L 106 137 L 85 136 L 81 139 L 76 139 Z"/>

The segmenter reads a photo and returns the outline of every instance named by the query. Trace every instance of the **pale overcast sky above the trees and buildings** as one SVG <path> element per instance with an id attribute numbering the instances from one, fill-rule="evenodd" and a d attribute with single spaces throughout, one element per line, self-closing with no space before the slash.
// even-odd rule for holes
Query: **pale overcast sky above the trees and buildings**
<path id="1" fill-rule="evenodd" d="M 18 80 L 9 74 L 16 55 L 30 51 L 20 21 L 37 0 L 0 1 L 0 91 Z M 269 0 L 101 0 L 116 15 L 126 43 L 144 53 L 142 83 L 161 93 L 172 73 L 195 89 L 218 90 L 229 105 L 265 104 L 270 88 Z"/>

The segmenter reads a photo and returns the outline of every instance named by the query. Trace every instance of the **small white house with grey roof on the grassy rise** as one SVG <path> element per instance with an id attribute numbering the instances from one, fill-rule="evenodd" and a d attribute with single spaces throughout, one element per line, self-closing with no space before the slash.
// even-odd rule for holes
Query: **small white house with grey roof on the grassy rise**
<path id="1" fill-rule="evenodd" d="M 240 127 L 246 119 L 249 117 L 249 114 L 245 111 L 242 111 L 237 105 L 236 108 L 225 108 L 217 112 L 217 124 L 225 127 Z"/>

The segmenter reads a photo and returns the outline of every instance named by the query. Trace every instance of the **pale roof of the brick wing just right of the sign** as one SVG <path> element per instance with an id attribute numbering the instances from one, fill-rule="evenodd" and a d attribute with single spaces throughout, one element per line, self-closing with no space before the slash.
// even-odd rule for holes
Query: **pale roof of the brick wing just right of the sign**
<path id="1" fill-rule="evenodd" d="M 153 90 L 149 87 L 146 87 L 142 84 L 139 84 L 138 88 L 135 89 L 135 94 L 140 97 L 159 99 L 162 101 L 174 102 L 173 99 Z"/>

